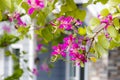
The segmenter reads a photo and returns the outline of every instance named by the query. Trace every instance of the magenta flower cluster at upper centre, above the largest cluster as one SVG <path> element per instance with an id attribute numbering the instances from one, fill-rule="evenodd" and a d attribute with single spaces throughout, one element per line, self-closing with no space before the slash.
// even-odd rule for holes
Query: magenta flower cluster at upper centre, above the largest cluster
<path id="1" fill-rule="evenodd" d="M 60 29 L 65 29 L 65 30 L 72 30 L 73 25 L 80 26 L 82 25 L 82 22 L 80 20 L 76 20 L 75 18 L 71 16 L 61 16 L 56 19 L 56 22 L 51 23 L 54 27 L 57 27 L 59 25 Z"/>

